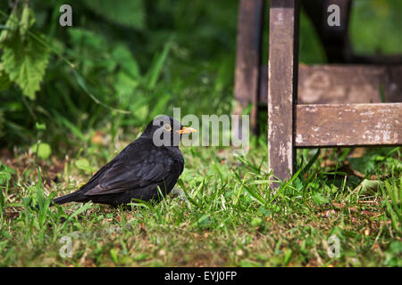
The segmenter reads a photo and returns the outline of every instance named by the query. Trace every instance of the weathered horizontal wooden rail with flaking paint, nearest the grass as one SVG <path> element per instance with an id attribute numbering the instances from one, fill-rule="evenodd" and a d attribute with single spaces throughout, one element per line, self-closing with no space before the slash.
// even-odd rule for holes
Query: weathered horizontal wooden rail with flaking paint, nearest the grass
<path id="1" fill-rule="evenodd" d="M 402 144 L 402 103 L 296 106 L 296 146 Z"/>

